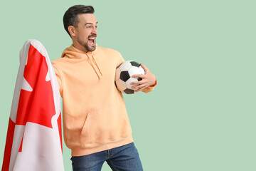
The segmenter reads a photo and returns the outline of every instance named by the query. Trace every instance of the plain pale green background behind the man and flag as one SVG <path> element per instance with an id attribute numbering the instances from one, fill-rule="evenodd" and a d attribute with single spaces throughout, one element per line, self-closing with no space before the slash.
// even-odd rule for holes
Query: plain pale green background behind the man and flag
<path id="1" fill-rule="evenodd" d="M 92 5 L 97 44 L 144 63 L 151 93 L 124 95 L 146 171 L 255 171 L 255 1 L 1 1 L 0 163 L 23 43 L 50 60 L 71 40 L 65 11 Z M 63 144 L 65 170 L 70 150 Z M 110 170 L 107 164 L 102 170 Z"/>

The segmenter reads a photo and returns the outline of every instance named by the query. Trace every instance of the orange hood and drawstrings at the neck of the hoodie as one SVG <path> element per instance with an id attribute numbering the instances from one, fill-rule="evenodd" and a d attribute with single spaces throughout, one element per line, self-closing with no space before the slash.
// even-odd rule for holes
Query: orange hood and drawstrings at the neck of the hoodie
<path id="1" fill-rule="evenodd" d="M 68 48 L 65 48 L 63 51 L 61 58 L 74 58 L 74 59 L 80 59 L 80 58 L 88 58 L 88 62 L 92 66 L 93 70 L 97 74 L 97 77 L 100 79 L 103 75 L 100 71 L 99 66 L 97 65 L 97 61 L 93 57 L 93 53 L 97 52 L 97 44 L 95 51 L 80 51 L 78 48 L 75 48 L 73 45 L 71 45 Z"/>

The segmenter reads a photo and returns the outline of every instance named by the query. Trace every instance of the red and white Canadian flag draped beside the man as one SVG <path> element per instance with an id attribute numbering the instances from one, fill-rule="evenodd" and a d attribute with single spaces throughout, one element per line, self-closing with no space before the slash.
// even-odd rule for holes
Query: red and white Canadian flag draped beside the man
<path id="1" fill-rule="evenodd" d="M 60 116 L 58 81 L 46 48 L 28 40 L 20 52 L 2 171 L 64 170 Z"/>

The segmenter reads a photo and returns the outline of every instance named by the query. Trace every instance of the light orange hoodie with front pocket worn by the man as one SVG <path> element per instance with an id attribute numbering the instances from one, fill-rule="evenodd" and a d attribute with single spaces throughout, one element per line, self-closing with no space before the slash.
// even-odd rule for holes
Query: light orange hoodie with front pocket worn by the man
<path id="1" fill-rule="evenodd" d="M 70 46 L 52 62 L 63 98 L 64 140 L 71 155 L 89 155 L 133 142 L 124 98 L 114 85 L 115 70 L 123 61 L 110 48 L 97 46 L 85 53 Z"/>

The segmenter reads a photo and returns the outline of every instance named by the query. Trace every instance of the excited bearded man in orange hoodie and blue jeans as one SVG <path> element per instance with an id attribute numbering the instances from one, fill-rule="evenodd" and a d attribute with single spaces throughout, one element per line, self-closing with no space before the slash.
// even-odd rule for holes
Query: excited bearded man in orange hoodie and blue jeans
<path id="1" fill-rule="evenodd" d="M 97 46 L 97 19 L 92 6 L 72 6 L 63 16 L 73 44 L 53 61 L 63 98 L 63 133 L 71 149 L 73 170 L 101 170 L 107 161 L 112 170 L 142 170 L 132 140 L 124 98 L 114 85 L 121 54 Z M 134 75 L 136 91 L 156 86 L 146 66 L 145 75 Z"/>

